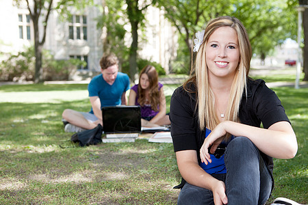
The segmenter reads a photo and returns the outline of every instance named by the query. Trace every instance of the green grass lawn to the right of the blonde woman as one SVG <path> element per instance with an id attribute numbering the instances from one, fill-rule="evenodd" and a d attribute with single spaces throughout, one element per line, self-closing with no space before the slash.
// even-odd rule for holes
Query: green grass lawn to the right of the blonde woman
<path id="1" fill-rule="evenodd" d="M 274 159 L 274 197 L 288 197 L 307 204 L 308 160 L 307 160 L 307 120 L 308 88 L 293 87 L 273 89 L 285 107 L 298 141 L 298 152 L 294 159 Z"/>

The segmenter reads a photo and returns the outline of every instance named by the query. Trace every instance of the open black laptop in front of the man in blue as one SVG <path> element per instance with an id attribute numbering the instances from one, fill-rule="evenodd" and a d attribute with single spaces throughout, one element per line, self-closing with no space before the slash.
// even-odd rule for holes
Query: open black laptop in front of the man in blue
<path id="1" fill-rule="evenodd" d="M 101 111 L 105 134 L 141 133 L 140 106 L 110 106 Z"/>

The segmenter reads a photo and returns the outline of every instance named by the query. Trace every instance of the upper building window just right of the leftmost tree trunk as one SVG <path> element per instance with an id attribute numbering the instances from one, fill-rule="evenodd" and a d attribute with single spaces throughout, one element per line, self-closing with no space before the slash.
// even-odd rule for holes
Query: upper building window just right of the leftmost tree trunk
<path id="1" fill-rule="evenodd" d="M 72 40 L 87 40 L 87 17 L 73 15 L 68 23 L 68 35 Z"/>

